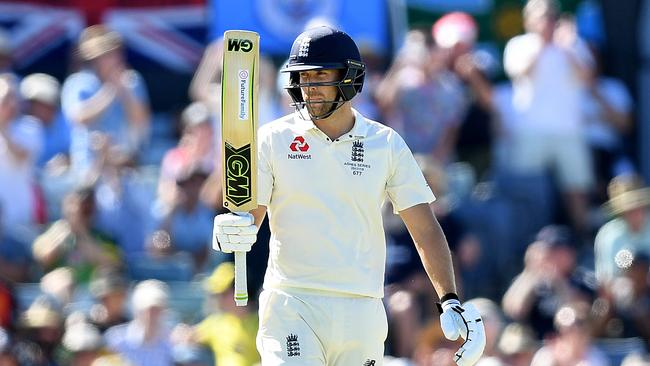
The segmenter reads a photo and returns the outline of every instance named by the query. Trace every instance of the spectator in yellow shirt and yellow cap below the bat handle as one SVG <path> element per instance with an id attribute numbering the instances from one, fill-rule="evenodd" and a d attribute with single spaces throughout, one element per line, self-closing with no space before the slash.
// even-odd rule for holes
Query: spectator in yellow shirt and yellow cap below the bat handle
<path id="1" fill-rule="evenodd" d="M 205 279 L 212 313 L 193 327 L 190 339 L 210 348 L 216 365 L 249 366 L 260 362 L 255 347 L 258 317 L 247 306 L 236 306 L 235 267 L 223 262 Z"/>

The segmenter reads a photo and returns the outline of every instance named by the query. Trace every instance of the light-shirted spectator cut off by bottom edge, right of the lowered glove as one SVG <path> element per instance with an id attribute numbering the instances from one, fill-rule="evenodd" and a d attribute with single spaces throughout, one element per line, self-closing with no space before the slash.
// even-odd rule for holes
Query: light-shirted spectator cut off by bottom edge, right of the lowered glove
<path id="1" fill-rule="evenodd" d="M 569 303 L 555 313 L 557 334 L 535 353 L 531 366 L 608 366 L 605 354 L 591 338 L 590 306 Z"/>

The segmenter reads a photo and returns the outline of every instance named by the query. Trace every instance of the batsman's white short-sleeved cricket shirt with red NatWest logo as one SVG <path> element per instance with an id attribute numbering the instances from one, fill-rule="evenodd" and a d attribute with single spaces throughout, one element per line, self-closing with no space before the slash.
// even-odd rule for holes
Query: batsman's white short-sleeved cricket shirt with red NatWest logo
<path id="1" fill-rule="evenodd" d="M 258 132 L 258 203 L 271 227 L 264 288 L 383 297 L 381 207 L 435 200 L 404 140 L 354 111 L 331 141 L 294 113 Z"/>

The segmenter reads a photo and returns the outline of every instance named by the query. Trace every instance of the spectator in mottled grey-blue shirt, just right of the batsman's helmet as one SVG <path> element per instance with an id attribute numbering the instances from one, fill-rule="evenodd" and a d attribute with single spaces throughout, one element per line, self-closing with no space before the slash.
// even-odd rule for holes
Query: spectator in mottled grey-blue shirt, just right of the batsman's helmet
<path id="1" fill-rule="evenodd" d="M 407 35 L 377 89 L 379 105 L 414 153 L 448 162 L 467 107 L 465 89 L 447 69 L 449 54 L 430 49 L 419 31 Z"/>

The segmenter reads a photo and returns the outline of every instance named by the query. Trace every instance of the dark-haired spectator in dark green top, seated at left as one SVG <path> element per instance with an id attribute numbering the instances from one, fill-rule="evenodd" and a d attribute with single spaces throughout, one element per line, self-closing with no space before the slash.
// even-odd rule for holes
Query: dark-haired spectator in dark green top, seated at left
<path id="1" fill-rule="evenodd" d="M 34 241 L 34 258 L 46 271 L 68 266 L 75 271 L 79 283 L 88 283 L 96 268 L 119 264 L 115 243 L 93 225 L 93 189 L 79 188 L 68 194 L 63 213 L 63 219 L 54 222 Z"/>

